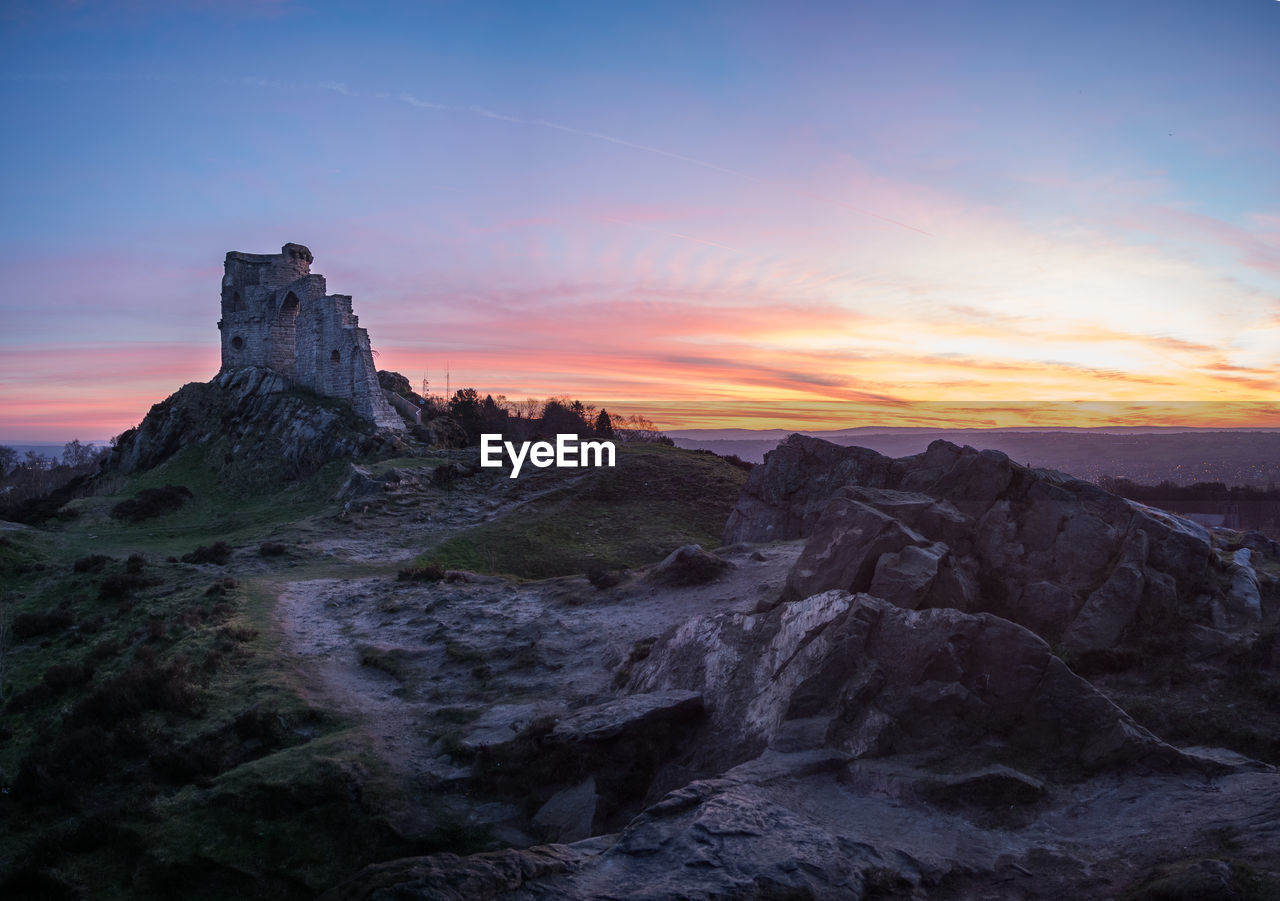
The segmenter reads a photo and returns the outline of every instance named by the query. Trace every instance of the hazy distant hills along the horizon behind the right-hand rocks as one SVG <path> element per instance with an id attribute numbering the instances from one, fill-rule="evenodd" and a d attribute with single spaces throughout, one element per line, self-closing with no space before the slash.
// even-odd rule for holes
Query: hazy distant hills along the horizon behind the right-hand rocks
<path id="1" fill-rule="evenodd" d="M 677 447 L 733 454 L 759 463 L 787 435 L 782 429 L 684 429 L 667 435 Z M 1069 472 L 1097 481 L 1120 476 L 1155 485 L 1220 481 L 1226 485 L 1280 482 L 1280 429 L 1185 427 L 1107 429 L 925 429 L 878 427 L 804 431 L 841 445 L 870 448 L 891 457 L 924 450 L 945 439 L 992 448 L 1015 462 Z"/>

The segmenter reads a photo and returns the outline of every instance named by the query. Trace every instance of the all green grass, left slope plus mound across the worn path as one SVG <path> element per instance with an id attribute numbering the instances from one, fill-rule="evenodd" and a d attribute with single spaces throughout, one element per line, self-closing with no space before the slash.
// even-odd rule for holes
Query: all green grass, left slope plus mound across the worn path
<path id="1" fill-rule="evenodd" d="M 668 447 L 516 481 L 433 481 L 442 463 L 367 467 L 426 476 L 383 526 L 466 495 L 497 518 L 428 561 L 522 577 L 714 545 L 745 479 Z M 305 700 L 282 646 L 285 581 L 394 578 L 392 563 L 343 564 L 300 538 L 365 527 L 338 521 L 346 472 L 330 463 L 264 491 L 187 448 L 47 529 L 0 532 L 0 897 L 310 898 L 370 861 L 479 849 L 483 836 L 394 782 L 355 723 Z M 165 486 L 189 491 L 166 491 L 179 509 L 113 517 Z"/>

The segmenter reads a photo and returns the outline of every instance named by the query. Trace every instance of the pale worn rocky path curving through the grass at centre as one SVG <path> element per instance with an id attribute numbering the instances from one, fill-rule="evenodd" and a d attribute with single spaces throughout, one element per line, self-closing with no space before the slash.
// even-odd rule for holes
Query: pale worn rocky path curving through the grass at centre
<path id="1" fill-rule="evenodd" d="M 397 486 L 344 513 L 335 503 L 334 517 L 289 536 L 308 562 L 297 567 L 300 577 L 278 582 L 275 614 L 303 691 L 355 718 L 393 770 L 419 786 L 467 772 L 451 744 L 495 708 L 515 731 L 616 694 L 637 642 L 696 614 L 772 600 L 799 553 L 796 544 L 728 549 L 723 577 L 684 589 L 658 587 L 644 573 L 605 590 L 581 576 L 397 581 L 397 570 L 425 548 L 518 514 L 539 490 L 507 480 L 451 493 Z"/>

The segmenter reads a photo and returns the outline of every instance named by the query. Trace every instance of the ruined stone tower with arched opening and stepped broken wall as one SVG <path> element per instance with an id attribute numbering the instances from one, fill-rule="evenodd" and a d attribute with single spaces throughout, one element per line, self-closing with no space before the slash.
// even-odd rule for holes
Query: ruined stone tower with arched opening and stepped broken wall
<path id="1" fill-rule="evenodd" d="M 316 394 L 343 398 L 387 429 L 403 429 L 378 384 L 369 333 L 349 294 L 326 294 L 311 251 L 227 255 L 223 275 L 223 371 L 264 366 Z"/>

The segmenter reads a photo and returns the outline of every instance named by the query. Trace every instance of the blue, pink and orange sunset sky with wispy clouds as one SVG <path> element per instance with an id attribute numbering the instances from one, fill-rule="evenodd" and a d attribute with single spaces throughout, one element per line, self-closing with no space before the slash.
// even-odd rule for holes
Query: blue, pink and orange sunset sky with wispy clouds
<path id="1" fill-rule="evenodd" d="M 370 5 L 3 4 L 0 442 L 211 378 L 285 242 L 435 392 L 1280 426 L 1276 0 Z"/>

